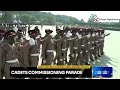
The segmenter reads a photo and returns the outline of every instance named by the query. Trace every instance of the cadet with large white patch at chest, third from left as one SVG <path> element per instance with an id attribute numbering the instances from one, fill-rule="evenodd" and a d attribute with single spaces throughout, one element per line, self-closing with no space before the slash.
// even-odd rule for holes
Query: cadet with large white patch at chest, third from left
<path id="1" fill-rule="evenodd" d="M 39 62 L 39 52 L 40 52 L 40 44 L 38 43 L 36 37 L 37 37 L 37 31 L 36 30 L 29 30 L 28 31 L 30 40 L 30 50 L 29 50 L 29 55 L 30 55 L 30 67 L 37 67 L 38 62 Z"/>

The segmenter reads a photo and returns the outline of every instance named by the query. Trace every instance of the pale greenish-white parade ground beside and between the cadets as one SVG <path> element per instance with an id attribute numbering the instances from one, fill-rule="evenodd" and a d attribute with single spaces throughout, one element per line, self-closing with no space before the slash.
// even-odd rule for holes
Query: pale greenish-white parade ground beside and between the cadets
<path id="1" fill-rule="evenodd" d="M 43 27 L 42 30 L 40 30 L 42 36 L 45 35 L 45 29 L 48 28 L 53 29 L 53 35 L 56 34 L 55 27 Z M 104 43 L 105 54 L 102 57 L 100 57 L 98 60 L 96 60 L 94 63 L 90 62 L 90 65 L 113 67 L 113 79 L 120 79 L 120 41 L 119 41 L 120 31 L 106 30 L 105 33 L 110 33 L 109 36 L 105 37 L 105 43 Z M 41 58 L 39 64 L 40 63 L 41 63 Z"/>

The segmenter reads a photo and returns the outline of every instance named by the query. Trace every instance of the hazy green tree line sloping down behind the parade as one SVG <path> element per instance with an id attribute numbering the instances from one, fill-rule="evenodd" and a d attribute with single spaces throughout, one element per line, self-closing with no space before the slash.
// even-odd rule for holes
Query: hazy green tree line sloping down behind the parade
<path id="1" fill-rule="evenodd" d="M 0 22 L 2 23 L 27 23 L 43 25 L 75 25 L 84 22 L 75 17 L 66 15 L 54 15 L 41 11 L 0 11 Z"/>

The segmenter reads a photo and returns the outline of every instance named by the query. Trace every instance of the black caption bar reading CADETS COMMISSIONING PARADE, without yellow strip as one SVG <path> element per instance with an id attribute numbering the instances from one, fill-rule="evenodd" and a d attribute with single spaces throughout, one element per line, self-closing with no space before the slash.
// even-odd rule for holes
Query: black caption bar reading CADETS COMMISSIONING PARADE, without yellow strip
<path id="1" fill-rule="evenodd" d="M 56 78 L 56 77 L 92 77 L 91 69 L 37 69 L 36 67 L 22 68 L 11 67 L 10 75 L 16 78 L 33 77 L 33 78 Z"/>

